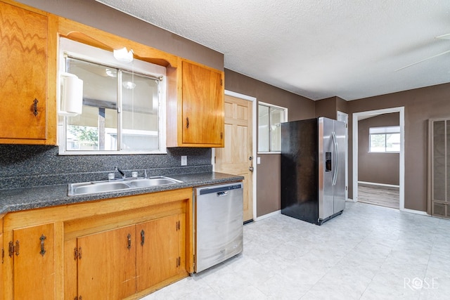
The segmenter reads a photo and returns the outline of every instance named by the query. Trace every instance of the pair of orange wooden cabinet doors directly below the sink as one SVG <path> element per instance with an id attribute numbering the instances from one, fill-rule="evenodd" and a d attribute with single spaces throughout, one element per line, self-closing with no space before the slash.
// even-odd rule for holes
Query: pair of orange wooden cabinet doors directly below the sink
<path id="1" fill-rule="evenodd" d="M 184 255 L 184 216 L 78 237 L 78 298 L 124 299 L 176 276 Z"/>

